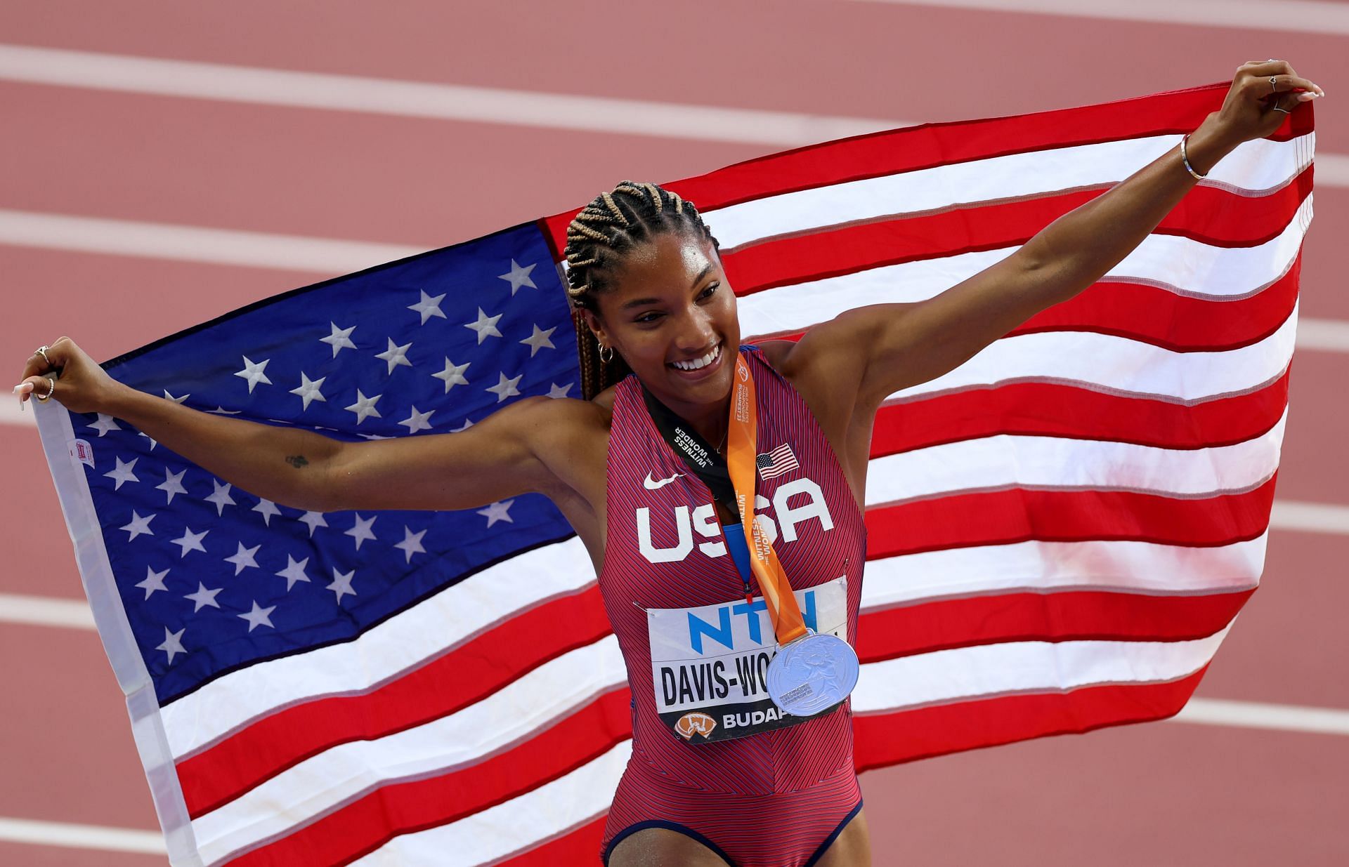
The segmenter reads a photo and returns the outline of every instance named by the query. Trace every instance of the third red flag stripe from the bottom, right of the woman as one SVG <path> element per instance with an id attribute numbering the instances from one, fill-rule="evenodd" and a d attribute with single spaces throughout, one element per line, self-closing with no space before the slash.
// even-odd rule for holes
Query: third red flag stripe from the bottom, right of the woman
<path id="1" fill-rule="evenodd" d="M 1253 539 L 1269 526 L 1275 477 L 1245 494 L 1193 500 L 1126 491 L 1013 488 L 878 506 L 866 510 L 867 558 L 1031 539 L 1230 545 Z"/>

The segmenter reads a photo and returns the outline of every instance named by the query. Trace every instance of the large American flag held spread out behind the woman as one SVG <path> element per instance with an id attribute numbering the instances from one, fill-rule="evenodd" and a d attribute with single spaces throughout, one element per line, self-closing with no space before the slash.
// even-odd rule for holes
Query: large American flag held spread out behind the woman
<path id="1" fill-rule="evenodd" d="M 928 124 L 669 185 L 742 330 L 919 302 L 1175 148 L 1226 85 Z M 1122 263 L 881 409 L 859 769 L 1170 716 L 1259 584 L 1311 217 L 1311 107 Z M 1179 167 L 1176 169 L 1179 171 Z M 575 212 L 297 290 L 108 364 L 328 436 L 577 396 Z M 39 409 L 174 864 L 594 860 L 629 688 L 549 502 L 302 512 L 105 415 Z"/>

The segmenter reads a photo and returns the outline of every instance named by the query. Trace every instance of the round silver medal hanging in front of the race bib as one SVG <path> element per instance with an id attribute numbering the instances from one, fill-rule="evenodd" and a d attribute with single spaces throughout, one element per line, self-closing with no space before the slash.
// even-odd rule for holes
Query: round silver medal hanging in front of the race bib
<path id="1" fill-rule="evenodd" d="M 812 716 L 857 686 L 857 651 L 836 635 L 807 632 L 777 649 L 768 665 L 768 694 L 792 716 Z"/>

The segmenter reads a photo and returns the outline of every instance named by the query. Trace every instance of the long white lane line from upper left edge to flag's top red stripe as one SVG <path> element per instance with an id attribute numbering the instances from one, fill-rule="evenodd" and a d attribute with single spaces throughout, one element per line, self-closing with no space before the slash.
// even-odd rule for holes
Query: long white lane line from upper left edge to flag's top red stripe
<path id="1" fill-rule="evenodd" d="M 900 120 L 769 112 L 0 44 L 0 80 L 194 100 L 796 147 Z"/>

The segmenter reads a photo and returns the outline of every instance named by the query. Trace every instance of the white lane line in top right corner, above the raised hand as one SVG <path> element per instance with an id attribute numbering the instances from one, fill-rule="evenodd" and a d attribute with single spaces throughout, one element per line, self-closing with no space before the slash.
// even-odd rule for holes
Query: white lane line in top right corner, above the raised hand
<path id="1" fill-rule="evenodd" d="M 1032 12 L 1153 24 L 1238 27 L 1260 32 L 1349 34 L 1349 7 L 1314 0 L 867 0 L 986 12 Z M 1263 59 L 1263 58 L 1242 58 Z"/>

